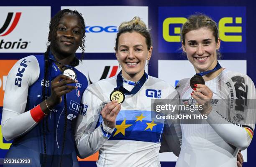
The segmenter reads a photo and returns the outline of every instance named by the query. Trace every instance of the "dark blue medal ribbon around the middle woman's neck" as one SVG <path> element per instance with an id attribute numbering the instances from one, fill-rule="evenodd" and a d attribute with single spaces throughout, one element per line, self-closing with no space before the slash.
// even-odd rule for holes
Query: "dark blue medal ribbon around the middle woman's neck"
<path id="1" fill-rule="evenodd" d="M 148 75 L 146 74 L 146 72 L 144 72 L 141 79 L 136 83 L 136 85 L 133 87 L 133 89 L 130 92 L 123 87 L 122 71 L 120 71 L 116 78 L 117 87 L 114 90 L 120 90 L 125 95 L 135 95 L 141 89 L 141 87 L 143 86 L 143 84 L 146 82 L 147 79 L 148 79 Z"/>

